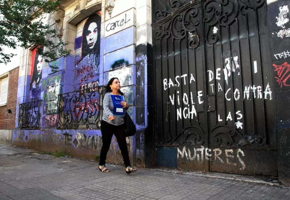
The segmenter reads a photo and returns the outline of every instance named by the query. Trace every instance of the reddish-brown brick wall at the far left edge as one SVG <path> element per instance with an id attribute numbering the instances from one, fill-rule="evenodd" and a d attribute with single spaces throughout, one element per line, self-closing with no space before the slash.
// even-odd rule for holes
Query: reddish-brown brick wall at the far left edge
<path id="1" fill-rule="evenodd" d="M 9 72 L 7 105 L 0 107 L 0 129 L 15 128 L 19 67 Z M 12 109 L 12 113 L 7 113 Z"/>

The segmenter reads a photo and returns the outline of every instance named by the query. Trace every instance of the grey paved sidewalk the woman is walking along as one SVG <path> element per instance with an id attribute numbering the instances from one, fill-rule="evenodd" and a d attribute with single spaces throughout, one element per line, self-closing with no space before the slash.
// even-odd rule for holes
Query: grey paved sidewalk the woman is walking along
<path id="1" fill-rule="evenodd" d="M 0 199 L 290 199 L 284 186 L 149 169 L 127 175 L 123 166 L 108 168 L 102 173 L 96 162 L 0 145 Z"/>

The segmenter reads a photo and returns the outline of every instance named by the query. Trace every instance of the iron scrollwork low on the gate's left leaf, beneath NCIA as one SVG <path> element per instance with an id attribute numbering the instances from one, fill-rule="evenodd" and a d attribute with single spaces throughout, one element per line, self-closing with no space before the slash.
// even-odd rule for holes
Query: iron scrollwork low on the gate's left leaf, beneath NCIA
<path id="1" fill-rule="evenodd" d="M 162 142 L 166 144 L 173 144 L 178 140 L 180 140 L 179 145 L 202 145 L 205 140 L 204 132 L 199 126 L 190 126 L 183 129 L 181 133 L 175 137 L 175 139 L 172 139 L 171 135 L 169 137 L 164 136 Z"/>

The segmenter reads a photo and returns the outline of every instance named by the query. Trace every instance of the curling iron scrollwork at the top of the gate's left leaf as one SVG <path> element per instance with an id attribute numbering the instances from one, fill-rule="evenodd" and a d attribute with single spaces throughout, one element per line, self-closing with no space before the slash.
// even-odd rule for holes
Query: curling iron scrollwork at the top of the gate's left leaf
<path id="1" fill-rule="evenodd" d="M 155 28 L 155 39 L 161 40 L 163 37 L 169 38 L 171 35 L 176 40 L 182 40 L 188 34 L 188 46 L 195 49 L 199 46 L 199 10 L 196 6 L 191 6 L 181 14 L 173 17 L 168 25 L 160 25 Z"/>

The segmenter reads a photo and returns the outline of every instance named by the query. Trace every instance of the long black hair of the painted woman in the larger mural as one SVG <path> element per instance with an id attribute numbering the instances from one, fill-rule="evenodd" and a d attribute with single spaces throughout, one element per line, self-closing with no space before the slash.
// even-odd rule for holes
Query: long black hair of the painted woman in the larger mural
<path id="1" fill-rule="evenodd" d="M 97 36 L 97 40 L 94 47 L 90 49 L 88 46 L 88 41 L 87 41 L 86 36 L 87 36 L 88 27 L 93 22 L 97 24 L 98 36 Z M 100 13 L 94 13 L 88 17 L 83 28 L 82 55 L 81 55 L 80 60 L 77 61 L 77 64 L 79 64 L 83 60 L 84 57 L 86 57 L 87 55 L 90 55 L 94 62 L 93 67 L 94 69 L 97 70 L 100 65 L 100 41 L 101 41 L 101 15 Z"/>

